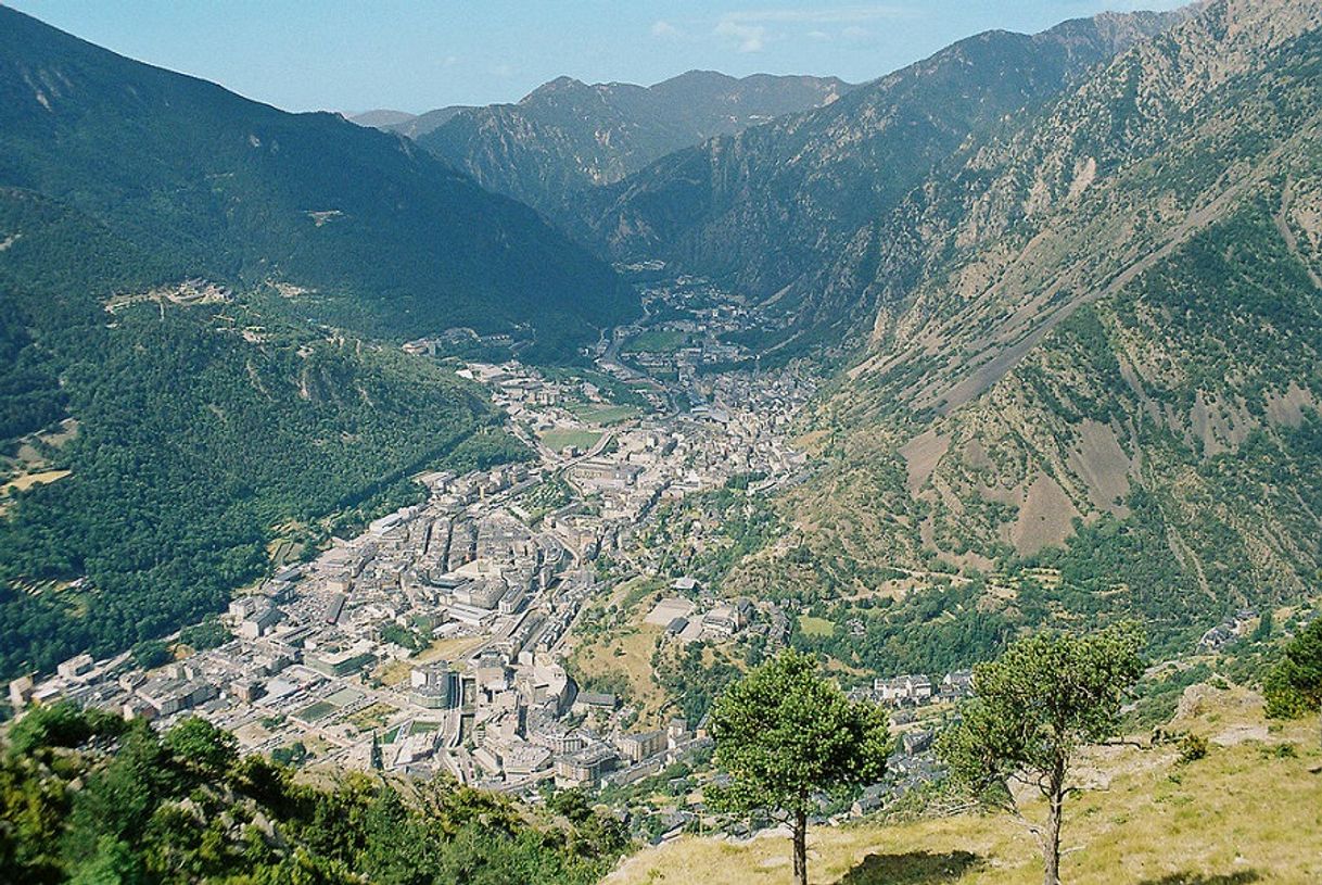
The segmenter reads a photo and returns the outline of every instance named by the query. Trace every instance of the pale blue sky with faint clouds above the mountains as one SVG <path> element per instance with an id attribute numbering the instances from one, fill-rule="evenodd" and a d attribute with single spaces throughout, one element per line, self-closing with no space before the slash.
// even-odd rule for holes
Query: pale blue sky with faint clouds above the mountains
<path id="1" fill-rule="evenodd" d="M 287 110 L 512 102 L 568 74 L 694 67 L 865 81 L 990 28 L 1174 0 L 0 0 L 85 40 Z"/>

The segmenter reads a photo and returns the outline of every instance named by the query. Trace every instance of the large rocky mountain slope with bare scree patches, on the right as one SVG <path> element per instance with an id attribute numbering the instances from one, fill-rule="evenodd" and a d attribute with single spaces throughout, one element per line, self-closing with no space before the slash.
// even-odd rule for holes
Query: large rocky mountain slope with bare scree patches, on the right
<path id="1" fill-rule="evenodd" d="M 965 144 L 822 275 L 866 356 L 805 422 L 801 548 L 735 585 L 944 575 L 940 619 L 810 640 L 859 665 L 1125 616 L 1187 651 L 1314 593 L 1319 120 L 1322 7 L 1219 0 Z"/>

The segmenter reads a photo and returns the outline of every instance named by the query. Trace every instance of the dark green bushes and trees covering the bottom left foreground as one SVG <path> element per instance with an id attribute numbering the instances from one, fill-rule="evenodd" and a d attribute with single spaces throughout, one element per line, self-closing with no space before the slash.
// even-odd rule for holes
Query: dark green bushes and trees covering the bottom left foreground
<path id="1" fill-rule="evenodd" d="M 568 791 L 534 812 L 448 782 L 313 786 L 200 718 L 164 734 L 66 705 L 0 757 L 0 870 L 42 882 L 587 885 L 625 839 Z"/>

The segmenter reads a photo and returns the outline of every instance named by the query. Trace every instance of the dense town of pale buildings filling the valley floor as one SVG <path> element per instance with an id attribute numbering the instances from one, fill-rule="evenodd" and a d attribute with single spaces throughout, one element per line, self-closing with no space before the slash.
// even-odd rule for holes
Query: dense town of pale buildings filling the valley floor
<path id="1" fill-rule="evenodd" d="M 159 728 L 202 716 L 242 751 L 312 771 L 448 777 L 524 798 L 551 780 L 633 783 L 710 754 L 701 710 L 662 717 L 632 685 L 605 691 L 613 671 L 594 675 L 584 659 L 620 594 L 648 602 L 648 623 L 677 650 L 788 639 L 791 615 L 720 599 L 710 571 L 713 557 L 734 561 L 779 529 L 730 550 L 744 541 L 726 523 L 676 524 L 713 495 L 765 517 L 767 496 L 808 470 L 788 434 L 814 385 L 795 369 L 724 368 L 744 357 L 717 333 L 750 321 L 713 307 L 724 302 L 701 279 L 648 284 L 650 319 L 604 335 L 591 369 L 438 356 L 467 331 L 406 344 L 405 358 L 479 385 L 535 459 L 415 475 L 424 500 L 305 562 L 276 562 L 219 619 L 112 657 L 74 656 L 12 683 L 11 700 L 122 709 Z M 678 568 L 662 562 L 672 552 L 697 554 L 701 582 L 653 577 Z"/>

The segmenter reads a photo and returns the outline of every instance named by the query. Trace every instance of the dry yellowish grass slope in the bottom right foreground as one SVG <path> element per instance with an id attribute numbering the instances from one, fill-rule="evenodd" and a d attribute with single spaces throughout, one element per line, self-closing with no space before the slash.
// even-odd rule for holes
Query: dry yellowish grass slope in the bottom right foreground
<path id="1" fill-rule="evenodd" d="M 1322 881 L 1322 774 L 1310 773 L 1322 762 L 1317 722 L 1265 732 L 1256 698 L 1224 692 L 1183 725 L 1214 739 L 1207 758 L 1179 765 L 1173 749 L 1161 747 L 1108 749 L 1089 761 L 1083 779 L 1092 787 L 1067 807 L 1064 880 Z M 1218 746 L 1218 739 L 1231 745 Z M 1281 746 L 1297 755 L 1285 755 Z M 810 832 L 809 848 L 812 881 L 822 884 L 1042 881 L 1036 844 L 1003 816 L 820 827 Z M 775 836 L 743 844 L 685 837 L 628 859 L 607 882 L 781 885 L 791 881 L 788 851 L 788 841 Z"/>

